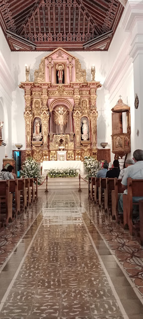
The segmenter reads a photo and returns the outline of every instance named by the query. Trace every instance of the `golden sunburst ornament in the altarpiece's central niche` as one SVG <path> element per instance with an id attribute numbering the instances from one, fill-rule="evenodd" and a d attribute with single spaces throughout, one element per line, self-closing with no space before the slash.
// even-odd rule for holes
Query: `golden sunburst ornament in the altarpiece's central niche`
<path id="1" fill-rule="evenodd" d="M 69 110 L 64 105 L 56 106 L 54 108 L 53 118 L 55 124 L 60 125 L 62 133 L 62 127 L 67 124 L 69 119 Z"/>

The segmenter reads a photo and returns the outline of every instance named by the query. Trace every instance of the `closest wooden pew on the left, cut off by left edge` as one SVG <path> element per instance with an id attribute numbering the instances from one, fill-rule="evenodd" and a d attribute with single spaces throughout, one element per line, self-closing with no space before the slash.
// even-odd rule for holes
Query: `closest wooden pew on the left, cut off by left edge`
<path id="1" fill-rule="evenodd" d="M 6 217 L 3 218 L 4 225 L 7 225 L 9 221 L 12 221 L 12 197 L 13 194 L 9 192 L 9 180 L 0 181 L 0 215 L 5 213 Z M 1 210 L 1 204 L 4 210 Z"/>

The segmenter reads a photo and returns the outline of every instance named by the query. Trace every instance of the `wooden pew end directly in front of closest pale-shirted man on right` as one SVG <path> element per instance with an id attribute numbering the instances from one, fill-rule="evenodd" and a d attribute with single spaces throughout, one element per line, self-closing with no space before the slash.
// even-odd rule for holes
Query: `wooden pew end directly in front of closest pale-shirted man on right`
<path id="1" fill-rule="evenodd" d="M 118 194 L 123 194 L 123 188 L 121 184 L 122 180 L 114 178 L 114 190 L 111 192 L 111 200 L 112 200 L 112 217 L 116 219 L 118 222 Z"/>

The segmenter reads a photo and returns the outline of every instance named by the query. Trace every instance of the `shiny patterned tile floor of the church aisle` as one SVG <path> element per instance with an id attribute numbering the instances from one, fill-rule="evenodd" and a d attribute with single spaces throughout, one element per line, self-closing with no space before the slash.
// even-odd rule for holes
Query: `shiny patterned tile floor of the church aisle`
<path id="1" fill-rule="evenodd" d="M 143 319 L 143 248 L 87 190 L 41 193 L 0 233 L 0 263 L 0 319 Z"/>

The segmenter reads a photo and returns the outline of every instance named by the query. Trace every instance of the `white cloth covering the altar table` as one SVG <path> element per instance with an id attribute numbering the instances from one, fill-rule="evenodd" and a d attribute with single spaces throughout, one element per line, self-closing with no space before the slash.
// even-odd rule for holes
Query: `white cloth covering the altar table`
<path id="1" fill-rule="evenodd" d="M 81 161 L 43 161 L 42 174 L 46 175 L 51 168 L 75 168 L 80 174 L 84 174 L 84 164 Z"/>

